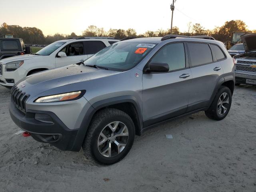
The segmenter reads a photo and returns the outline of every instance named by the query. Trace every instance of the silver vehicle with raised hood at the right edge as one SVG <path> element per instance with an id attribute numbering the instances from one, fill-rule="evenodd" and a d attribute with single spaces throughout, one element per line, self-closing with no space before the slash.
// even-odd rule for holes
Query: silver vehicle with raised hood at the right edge
<path id="1" fill-rule="evenodd" d="M 241 36 L 245 52 L 234 56 L 236 85 L 256 85 L 256 33 Z"/>

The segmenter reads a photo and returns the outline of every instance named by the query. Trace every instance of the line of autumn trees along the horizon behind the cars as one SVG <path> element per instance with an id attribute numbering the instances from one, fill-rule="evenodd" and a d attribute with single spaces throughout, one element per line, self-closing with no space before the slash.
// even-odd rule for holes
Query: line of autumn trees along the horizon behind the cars
<path id="1" fill-rule="evenodd" d="M 187 24 L 187 27 L 188 30 L 186 32 L 180 32 L 180 29 L 177 26 L 174 26 L 172 28 L 172 34 L 186 36 L 208 35 L 214 37 L 216 40 L 226 42 L 231 40 L 233 32 L 256 32 L 256 30 L 248 30 L 246 24 L 242 20 L 226 21 L 224 25 L 220 27 L 216 26 L 213 30 L 205 29 L 201 24 L 192 24 L 191 22 Z M 18 25 L 8 25 L 3 23 L 0 26 L 0 34 L 13 34 L 15 38 L 22 38 L 26 44 L 50 44 L 57 40 L 78 37 L 108 36 L 120 39 L 125 37 L 162 37 L 170 34 L 170 29 L 158 29 L 157 31 L 148 30 L 144 34 L 137 34 L 136 30 L 132 28 L 127 30 L 110 28 L 110 30 L 105 31 L 104 28 L 98 28 L 97 26 L 90 25 L 82 32 L 81 36 L 76 35 L 74 32 L 70 35 L 56 33 L 54 35 L 44 36 L 42 30 L 36 27 L 22 28 Z"/>

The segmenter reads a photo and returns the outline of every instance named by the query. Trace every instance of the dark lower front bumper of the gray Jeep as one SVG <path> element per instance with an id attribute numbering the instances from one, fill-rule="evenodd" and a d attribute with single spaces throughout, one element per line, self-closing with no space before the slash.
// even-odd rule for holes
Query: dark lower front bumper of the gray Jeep
<path id="1" fill-rule="evenodd" d="M 9 104 L 9 111 L 14 123 L 22 130 L 29 132 L 35 140 L 50 143 L 60 150 L 80 150 L 81 145 L 77 145 L 76 142 L 78 129 L 68 129 L 53 112 L 27 110 L 26 114 L 24 114 L 16 108 L 13 101 Z M 44 123 L 36 120 L 34 118 L 36 113 L 49 115 L 53 123 Z"/>

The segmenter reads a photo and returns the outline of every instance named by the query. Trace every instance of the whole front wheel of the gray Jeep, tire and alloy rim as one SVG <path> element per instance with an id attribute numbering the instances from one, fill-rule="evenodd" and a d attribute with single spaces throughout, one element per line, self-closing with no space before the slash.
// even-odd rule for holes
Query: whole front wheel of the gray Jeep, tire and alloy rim
<path id="1" fill-rule="evenodd" d="M 95 114 L 82 144 L 87 158 L 114 164 L 124 158 L 134 142 L 135 127 L 128 114 L 104 109 Z"/>

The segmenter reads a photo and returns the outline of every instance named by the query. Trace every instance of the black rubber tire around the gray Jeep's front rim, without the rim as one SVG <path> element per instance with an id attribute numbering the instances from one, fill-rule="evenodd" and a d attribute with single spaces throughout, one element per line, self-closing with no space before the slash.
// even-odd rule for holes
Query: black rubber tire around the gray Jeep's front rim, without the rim
<path id="1" fill-rule="evenodd" d="M 126 125 L 128 128 L 128 139 L 124 149 L 113 157 L 103 156 L 98 149 L 98 138 L 102 130 L 111 122 L 119 121 Z M 87 134 L 85 136 L 82 148 L 85 152 L 85 156 L 88 159 L 94 159 L 102 164 L 114 164 L 122 158 L 124 158 L 130 149 L 135 138 L 135 127 L 132 119 L 128 114 L 114 108 L 106 108 L 97 112 L 88 128 Z"/>

